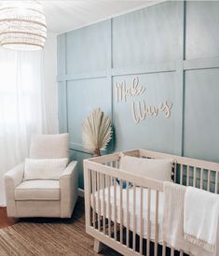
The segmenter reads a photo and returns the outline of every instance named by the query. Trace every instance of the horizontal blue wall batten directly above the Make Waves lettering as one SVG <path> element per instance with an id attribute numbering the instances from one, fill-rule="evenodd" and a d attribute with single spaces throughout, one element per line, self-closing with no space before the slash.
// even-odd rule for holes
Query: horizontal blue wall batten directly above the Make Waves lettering
<path id="1" fill-rule="evenodd" d="M 175 62 L 163 63 L 163 64 L 148 64 L 139 67 L 127 67 L 127 68 L 112 68 L 112 76 L 124 76 L 135 74 L 150 74 L 150 73 L 163 73 L 172 72 L 176 70 Z"/>

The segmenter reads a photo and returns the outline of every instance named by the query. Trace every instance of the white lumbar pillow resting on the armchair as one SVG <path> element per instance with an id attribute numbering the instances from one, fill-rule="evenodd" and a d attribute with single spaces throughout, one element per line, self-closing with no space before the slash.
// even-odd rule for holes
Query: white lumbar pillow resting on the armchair
<path id="1" fill-rule="evenodd" d="M 67 158 L 60 159 L 25 159 L 24 180 L 60 179 L 68 164 Z"/>

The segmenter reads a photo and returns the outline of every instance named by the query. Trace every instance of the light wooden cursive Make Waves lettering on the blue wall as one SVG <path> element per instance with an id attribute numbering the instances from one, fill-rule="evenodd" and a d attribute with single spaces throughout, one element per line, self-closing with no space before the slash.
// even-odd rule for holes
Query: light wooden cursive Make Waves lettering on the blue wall
<path id="1" fill-rule="evenodd" d="M 139 78 L 132 79 L 130 86 L 127 86 L 126 80 L 116 82 L 116 101 L 117 103 L 126 103 L 128 98 L 136 98 L 146 92 L 146 88 L 139 83 Z M 144 121 L 146 117 L 157 117 L 160 112 L 164 113 L 166 119 L 171 117 L 172 103 L 165 101 L 158 103 L 156 106 L 147 104 L 144 100 L 133 100 L 131 102 L 131 117 L 135 123 Z"/>

